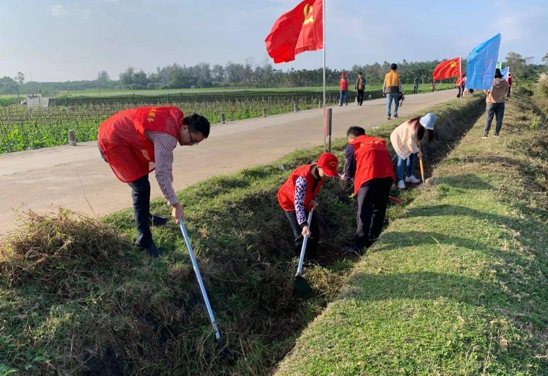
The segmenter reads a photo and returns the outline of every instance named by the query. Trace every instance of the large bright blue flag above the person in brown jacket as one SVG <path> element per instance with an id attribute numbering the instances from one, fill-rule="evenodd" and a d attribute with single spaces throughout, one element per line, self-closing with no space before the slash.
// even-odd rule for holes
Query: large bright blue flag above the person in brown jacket
<path id="1" fill-rule="evenodd" d="M 499 58 L 500 33 L 476 46 L 466 62 L 466 88 L 490 90 L 493 87 L 497 59 Z"/>

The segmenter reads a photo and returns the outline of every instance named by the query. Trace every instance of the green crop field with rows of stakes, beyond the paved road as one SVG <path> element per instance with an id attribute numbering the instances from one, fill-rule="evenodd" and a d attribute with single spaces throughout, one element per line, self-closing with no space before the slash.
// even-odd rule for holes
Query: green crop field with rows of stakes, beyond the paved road
<path id="1" fill-rule="evenodd" d="M 449 84 L 446 84 L 449 85 Z M 449 88 L 449 87 L 448 87 Z M 407 88 L 406 88 L 407 91 Z M 25 106 L 0 107 L 0 154 L 53 147 L 67 143 L 68 130 L 76 131 L 76 141 L 94 141 L 101 122 L 123 109 L 136 105 L 176 105 L 185 113 L 193 112 L 206 116 L 214 124 L 220 122 L 221 113 L 226 121 L 235 121 L 262 116 L 264 108 L 268 115 L 283 114 L 294 110 L 318 108 L 322 100 L 321 92 L 255 92 L 239 95 L 192 96 L 171 95 L 151 98 L 133 97 L 132 100 L 119 100 L 93 103 L 93 100 L 82 100 L 82 104 L 71 102 L 69 105 L 54 105 L 49 108 L 27 109 Z M 281 94 L 281 95 L 280 95 Z M 380 97 L 380 88 L 367 91 L 366 98 Z M 351 99 L 353 100 L 352 93 Z M 153 99 L 153 100 L 151 100 Z M 169 99 L 169 100 L 168 100 Z M 327 105 L 338 103 L 337 91 L 328 92 Z M 63 102 L 64 100 L 61 100 Z M 51 101 L 50 101 L 51 103 Z"/>

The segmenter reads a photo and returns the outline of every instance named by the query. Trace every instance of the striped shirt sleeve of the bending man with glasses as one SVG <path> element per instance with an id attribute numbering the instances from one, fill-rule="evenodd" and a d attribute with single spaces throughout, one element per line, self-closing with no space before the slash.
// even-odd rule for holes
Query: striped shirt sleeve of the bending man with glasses
<path id="1" fill-rule="evenodd" d="M 165 200 L 170 205 L 179 202 L 172 184 L 173 149 L 177 146 L 177 139 L 170 134 L 155 131 L 145 131 L 145 137 L 154 144 L 154 159 L 156 166 L 156 180 L 162 190 Z"/>

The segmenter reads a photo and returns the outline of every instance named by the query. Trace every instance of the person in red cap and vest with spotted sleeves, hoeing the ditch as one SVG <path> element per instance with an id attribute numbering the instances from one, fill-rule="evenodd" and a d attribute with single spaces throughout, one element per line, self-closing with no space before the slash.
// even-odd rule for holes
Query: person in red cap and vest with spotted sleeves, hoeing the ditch
<path id="1" fill-rule="evenodd" d="M 312 223 L 307 222 L 311 208 L 315 208 L 316 195 L 322 188 L 326 177 L 339 177 L 337 165 L 339 160 L 330 153 L 323 153 L 318 161 L 300 166 L 289 175 L 289 178 L 278 190 L 279 206 L 286 211 L 293 234 L 295 235 L 295 255 L 299 256 L 304 235 L 309 235 L 306 244 L 306 255 L 316 257 L 318 248 L 319 227 L 316 211 L 312 214 Z"/>

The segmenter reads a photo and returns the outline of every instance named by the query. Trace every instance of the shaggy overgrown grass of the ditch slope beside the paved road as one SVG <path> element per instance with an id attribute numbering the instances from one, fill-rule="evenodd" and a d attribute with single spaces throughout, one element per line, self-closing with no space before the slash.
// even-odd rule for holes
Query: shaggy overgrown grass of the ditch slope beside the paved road
<path id="1" fill-rule="evenodd" d="M 424 145 L 430 161 L 473 124 L 482 97 L 433 107 L 438 139 Z M 399 122 L 405 119 L 401 119 Z M 375 130 L 388 137 L 399 122 Z M 344 140 L 334 152 L 343 160 Z M 276 192 L 294 167 L 320 148 L 270 165 L 207 179 L 178 192 L 210 301 L 236 361 L 216 356 L 190 259 L 179 228 L 153 228 L 162 257 L 132 244 L 132 211 L 100 222 L 67 211 L 31 214 L 0 245 L 0 370 L 75 374 L 266 374 L 327 302 L 339 294 L 355 260 L 343 257 L 355 229 L 351 189 L 327 182 L 319 195 L 319 265 L 304 277 L 316 297 L 293 295 L 292 232 Z M 286 171 L 277 166 L 284 165 Z M 394 193 L 396 194 L 396 193 Z M 404 193 L 409 201 L 413 193 Z M 401 208 L 390 207 L 389 218 Z M 168 216 L 162 200 L 152 211 Z M 0 371 L 2 372 L 2 371 Z M 1 373 L 0 373 L 1 374 Z"/>

